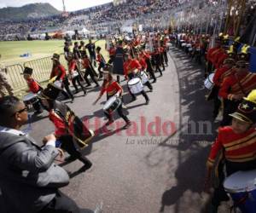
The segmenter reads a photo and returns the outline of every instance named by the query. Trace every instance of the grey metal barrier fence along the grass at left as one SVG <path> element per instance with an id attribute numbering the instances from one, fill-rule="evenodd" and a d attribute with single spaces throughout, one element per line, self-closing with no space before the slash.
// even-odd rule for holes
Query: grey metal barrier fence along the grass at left
<path id="1" fill-rule="evenodd" d="M 65 60 L 64 54 L 61 54 L 60 62 L 67 70 L 67 61 Z M 33 78 L 39 83 L 43 83 L 49 80 L 49 75 L 52 69 L 52 60 L 51 57 L 44 57 L 37 60 L 26 61 L 23 66 L 20 64 L 7 66 L 9 83 L 12 85 L 15 92 L 27 88 L 25 79 L 20 75 L 26 66 L 33 69 Z"/>

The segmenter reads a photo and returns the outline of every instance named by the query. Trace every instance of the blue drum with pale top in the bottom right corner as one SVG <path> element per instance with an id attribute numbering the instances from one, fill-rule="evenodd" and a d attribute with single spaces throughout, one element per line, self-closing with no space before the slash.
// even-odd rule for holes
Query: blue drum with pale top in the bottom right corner
<path id="1" fill-rule="evenodd" d="M 238 204 L 242 213 L 255 213 L 256 210 L 256 170 L 238 171 L 227 177 L 224 189 L 230 193 L 235 205 Z"/>

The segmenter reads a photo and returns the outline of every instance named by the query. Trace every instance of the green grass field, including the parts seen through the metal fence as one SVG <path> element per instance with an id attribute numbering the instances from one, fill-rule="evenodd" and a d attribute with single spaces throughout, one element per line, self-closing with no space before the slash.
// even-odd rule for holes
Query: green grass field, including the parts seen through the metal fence
<path id="1" fill-rule="evenodd" d="M 85 40 L 84 43 L 88 43 L 88 41 Z M 96 46 L 100 46 L 102 48 L 102 55 L 105 60 L 108 60 L 108 51 L 105 49 L 105 40 L 97 41 Z M 25 80 L 20 76 L 25 62 L 33 60 L 31 63 L 26 65 L 34 69 L 34 78 L 44 85 L 45 82 L 47 83 L 49 80 L 49 74 L 51 72 L 52 62 L 49 56 L 54 53 L 62 54 L 63 48 L 64 40 L 0 42 L 0 54 L 2 55 L 0 62 L 5 66 L 9 66 L 9 83 L 12 85 L 13 89 L 15 89 L 15 94 L 20 96 L 20 93 L 23 94 L 24 89 L 27 88 Z M 73 47 L 71 48 L 73 49 Z M 20 57 L 20 55 L 24 55 L 26 53 L 29 53 L 31 56 Z M 45 57 L 48 58 L 45 59 Z M 61 61 L 64 66 L 67 66 L 64 58 Z M 44 62 L 46 64 L 44 64 Z M 42 66 L 43 64 L 44 66 Z"/>

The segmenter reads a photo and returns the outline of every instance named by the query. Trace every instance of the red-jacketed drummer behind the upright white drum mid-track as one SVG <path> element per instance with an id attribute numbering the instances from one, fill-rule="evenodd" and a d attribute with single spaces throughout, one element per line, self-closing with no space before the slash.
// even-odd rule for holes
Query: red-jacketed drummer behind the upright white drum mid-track
<path id="1" fill-rule="evenodd" d="M 129 53 L 125 53 L 125 63 L 124 63 L 125 78 L 128 81 L 131 80 L 132 78 L 137 78 L 137 72 L 141 69 L 142 69 L 142 66 L 140 65 L 140 63 L 137 60 L 131 59 L 131 55 Z M 131 94 L 132 101 L 135 101 L 137 99 L 136 95 L 132 94 L 130 89 L 129 89 L 129 92 Z M 141 94 L 145 98 L 146 104 L 148 105 L 149 103 L 148 95 L 145 93 L 144 90 L 141 92 Z"/>

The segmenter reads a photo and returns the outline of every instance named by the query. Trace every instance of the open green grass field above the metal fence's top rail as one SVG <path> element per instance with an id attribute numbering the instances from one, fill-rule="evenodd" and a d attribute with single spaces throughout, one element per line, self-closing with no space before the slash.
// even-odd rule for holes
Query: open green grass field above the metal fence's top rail
<path id="1" fill-rule="evenodd" d="M 84 41 L 87 43 L 88 41 Z M 102 55 L 108 59 L 108 53 L 105 50 L 105 40 L 96 42 L 96 46 L 102 48 Z M 13 64 L 23 64 L 29 60 L 51 56 L 54 53 L 63 53 L 64 40 L 49 40 L 49 41 L 17 41 L 17 42 L 0 42 L 1 61 L 10 66 Z M 25 53 L 30 53 L 32 56 L 20 57 Z"/>

